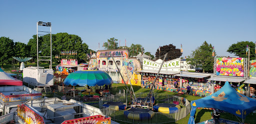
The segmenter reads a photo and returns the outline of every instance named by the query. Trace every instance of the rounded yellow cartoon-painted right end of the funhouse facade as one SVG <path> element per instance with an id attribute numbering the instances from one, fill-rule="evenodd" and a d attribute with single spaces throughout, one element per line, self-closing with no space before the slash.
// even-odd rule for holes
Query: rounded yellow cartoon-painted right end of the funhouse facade
<path id="1" fill-rule="evenodd" d="M 124 61 L 122 64 L 122 67 L 120 69 L 120 73 L 123 76 L 124 81 L 122 80 L 121 76 L 119 76 L 119 80 L 121 83 L 126 83 L 128 84 L 128 77 L 126 73 L 126 69 L 128 71 L 128 75 L 130 78 L 130 83 L 131 85 L 141 85 L 141 75 L 139 73 L 136 73 L 135 71 L 140 71 L 141 70 L 141 64 L 140 61 L 137 59 L 128 59 L 127 61 Z"/>

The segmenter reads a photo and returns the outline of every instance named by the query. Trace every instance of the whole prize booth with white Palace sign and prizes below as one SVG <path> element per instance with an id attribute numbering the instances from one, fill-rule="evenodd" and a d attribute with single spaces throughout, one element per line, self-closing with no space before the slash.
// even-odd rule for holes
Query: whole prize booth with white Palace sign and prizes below
<path id="1" fill-rule="evenodd" d="M 155 76 L 159 70 L 162 60 L 158 59 L 152 61 L 146 58 L 142 58 L 142 70 L 136 71 L 143 76 L 144 85 L 142 87 L 150 88 Z M 160 90 L 166 87 L 174 88 L 174 81 L 179 84 L 178 79 L 175 78 L 175 74 L 180 73 L 180 58 L 163 62 L 163 66 L 159 72 L 159 76 L 156 79 L 155 88 Z M 179 85 L 178 85 L 179 86 Z"/>

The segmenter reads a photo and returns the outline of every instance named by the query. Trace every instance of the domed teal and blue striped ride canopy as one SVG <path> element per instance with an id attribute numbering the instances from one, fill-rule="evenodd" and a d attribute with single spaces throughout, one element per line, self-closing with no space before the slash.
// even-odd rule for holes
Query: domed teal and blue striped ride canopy
<path id="1" fill-rule="evenodd" d="M 112 79 L 107 73 L 97 70 L 76 71 L 69 74 L 64 80 L 65 85 L 72 86 L 103 86 L 109 85 L 111 82 Z"/>

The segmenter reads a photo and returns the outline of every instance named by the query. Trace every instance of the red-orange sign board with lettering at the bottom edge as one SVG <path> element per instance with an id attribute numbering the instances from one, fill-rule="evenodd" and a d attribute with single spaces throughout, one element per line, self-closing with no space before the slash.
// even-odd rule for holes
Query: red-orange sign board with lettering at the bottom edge
<path id="1" fill-rule="evenodd" d="M 84 117 L 79 119 L 67 120 L 61 124 L 110 124 L 111 118 L 105 118 L 101 115 Z"/>

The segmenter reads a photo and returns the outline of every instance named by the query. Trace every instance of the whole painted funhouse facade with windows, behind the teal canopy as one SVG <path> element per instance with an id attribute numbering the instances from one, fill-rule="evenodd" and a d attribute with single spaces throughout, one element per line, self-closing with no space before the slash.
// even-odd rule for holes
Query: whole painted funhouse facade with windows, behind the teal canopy
<path id="1" fill-rule="evenodd" d="M 111 55 L 113 56 L 113 59 Z M 122 80 L 118 70 L 114 64 L 120 69 L 120 73 L 123 76 Z M 128 75 L 126 73 L 126 69 Z M 113 80 L 114 83 L 128 83 L 128 78 L 132 85 L 139 85 L 141 81 L 141 75 L 135 71 L 141 70 L 141 63 L 139 59 L 135 57 L 129 57 L 129 51 L 127 49 L 114 49 L 114 50 L 98 50 L 96 57 L 89 60 L 88 69 L 98 69 L 106 72 Z"/>

